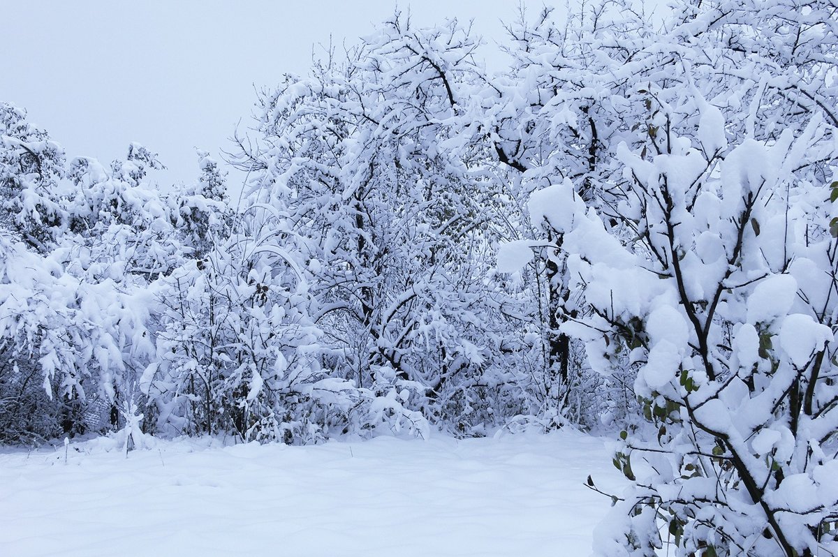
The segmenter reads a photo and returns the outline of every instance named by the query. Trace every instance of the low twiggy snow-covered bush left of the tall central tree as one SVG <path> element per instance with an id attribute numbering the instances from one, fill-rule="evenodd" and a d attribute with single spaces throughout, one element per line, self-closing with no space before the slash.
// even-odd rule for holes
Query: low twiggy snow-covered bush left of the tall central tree
<path id="1" fill-rule="evenodd" d="M 307 352 L 318 333 L 307 322 L 306 293 L 292 267 L 269 266 L 247 249 L 234 236 L 160 285 L 158 361 L 142 389 L 160 407 L 161 425 L 268 436 L 267 422 L 282 424 L 283 405 L 297 404 L 292 385 L 310 383 Z"/>

